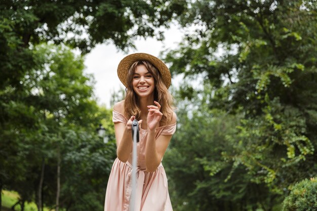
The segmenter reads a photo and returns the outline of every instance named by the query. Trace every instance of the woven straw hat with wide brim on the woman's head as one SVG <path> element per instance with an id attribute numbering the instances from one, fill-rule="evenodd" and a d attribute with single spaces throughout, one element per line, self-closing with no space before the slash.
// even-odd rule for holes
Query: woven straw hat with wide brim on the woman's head
<path id="1" fill-rule="evenodd" d="M 127 77 L 128 77 L 128 71 L 131 65 L 134 62 L 141 61 L 141 60 L 149 61 L 152 65 L 154 65 L 157 68 L 157 70 L 159 70 L 162 80 L 166 88 L 168 89 L 171 85 L 171 73 L 169 68 L 159 58 L 154 57 L 150 54 L 145 54 L 145 53 L 130 54 L 121 60 L 117 68 L 117 73 L 123 85 L 125 87 L 127 87 L 128 85 Z"/>

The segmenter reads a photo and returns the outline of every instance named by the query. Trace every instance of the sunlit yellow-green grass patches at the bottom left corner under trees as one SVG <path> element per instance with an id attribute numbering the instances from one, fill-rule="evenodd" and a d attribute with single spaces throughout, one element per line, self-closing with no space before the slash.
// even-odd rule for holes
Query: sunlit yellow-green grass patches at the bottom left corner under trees
<path id="1" fill-rule="evenodd" d="M 18 201 L 19 194 L 14 191 L 3 190 L 1 193 L 2 197 L 2 208 L 3 211 L 12 211 L 11 206 Z M 15 206 L 16 211 L 20 211 L 20 205 Z M 24 211 L 36 211 L 37 207 L 34 202 L 25 202 Z M 44 211 L 49 211 L 48 208 L 44 207 Z"/>

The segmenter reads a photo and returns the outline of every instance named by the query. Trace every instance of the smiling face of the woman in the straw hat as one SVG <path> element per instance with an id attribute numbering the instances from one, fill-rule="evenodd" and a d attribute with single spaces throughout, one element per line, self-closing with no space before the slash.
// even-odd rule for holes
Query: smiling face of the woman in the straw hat
<path id="1" fill-rule="evenodd" d="M 139 97 L 149 97 L 153 95 L 155 81 L 152 74 L 146 69 L 145 65 L 138 65 L 133 74 L 132 86 L 134 92 Z"/>

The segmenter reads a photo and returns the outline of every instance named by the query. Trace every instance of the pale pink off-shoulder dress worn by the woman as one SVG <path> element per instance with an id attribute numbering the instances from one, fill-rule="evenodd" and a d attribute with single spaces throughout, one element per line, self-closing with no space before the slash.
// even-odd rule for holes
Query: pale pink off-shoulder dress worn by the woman
<path id="1" fill-rule="evenodd" d="M 112 112 L 113 122 L 127 123 L 128 119 L 117 111 Z M 176 123 L 161 126 L 156 129 L 156 136 L 172 135 L 176 131 Z M 162 163 L 155 172 L 145 172 L 145 145 L 147 130 L 140 130 L 140 142 L 137 144 L 138 168 L 137 190 L 134 211 L 172 211 L 168 192 L 167 177 Z M 132 141 L 132 138 L 131 138 Z M 129 211 L 132 192 L 132 153 L 126 163 L 118 158 L 114 160 L 108 180 L 105 211 Z"/>

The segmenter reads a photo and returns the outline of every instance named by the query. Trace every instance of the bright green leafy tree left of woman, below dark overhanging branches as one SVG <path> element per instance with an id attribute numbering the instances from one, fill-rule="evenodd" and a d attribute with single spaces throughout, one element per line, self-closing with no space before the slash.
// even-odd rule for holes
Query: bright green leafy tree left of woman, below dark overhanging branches
<path id="1" fill-rule="evenodd" d="M 33 54 L 36 68 L 26 72 L 18 89 L 1 96 L 8 114 L 0 142 L 1 186 L 17 191 L 22 202 L 37 201 L 44 163 L 43 202 L 54 207 L 60 159 L 60 207 L 99 209 L 115 158 L 110 110 L 97 106 L 81 56 L 54 45 L 35 46 Z M 108 144 L 97 136 L 100 122 Z"/>

